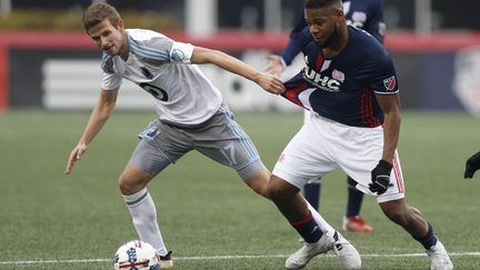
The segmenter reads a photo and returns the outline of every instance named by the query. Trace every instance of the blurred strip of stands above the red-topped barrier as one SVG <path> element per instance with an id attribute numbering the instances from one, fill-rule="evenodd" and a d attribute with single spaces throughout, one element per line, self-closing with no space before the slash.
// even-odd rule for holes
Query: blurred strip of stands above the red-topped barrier
<path id="1" fill-rule="evenodd" d="M 112 0 L 128 24 L 156 30 L 182 29 L 189 0 Z M 194 0 L 207 1 L 207 0 Z M 82 10 L 92 0 L 0 0 L 0 29 L 79 29 Z M 218 29 L 290 29 L 301 0 L 214 0 Z M 273 4 L 273 6 L 271 6 Z M 473 0 L 383 0 L 384 20 L 390 30 L 414 30 L 428 24 L 430 30 L 478 30 L 480 1 Z M 276 10 L 279 7 L 280 10 Z M 428 9 L 426 12 L 424 9 Z M 420 11 L 416 12 L 416 11 Z M 203 12 L 198 10 L 199 16 Z M 270 17 L 273 17 L 268 21 Z M 428 21 L 426 21 L 428 20 Z"/>

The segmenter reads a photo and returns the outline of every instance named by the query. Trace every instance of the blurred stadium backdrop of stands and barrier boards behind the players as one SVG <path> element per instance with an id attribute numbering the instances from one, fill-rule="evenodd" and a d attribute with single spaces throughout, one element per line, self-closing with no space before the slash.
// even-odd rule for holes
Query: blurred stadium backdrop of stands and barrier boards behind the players
<path id="1" fill-rule="evenodd" d="M 0 111 L 8 108 L 86 108 L 99 87 L 99 51 L 81 18 L 92 0 L 0 0 Z M 127 28 L 147 28 L 196 46 L 220 49 L 252 67 L 280 52 L 301 16 L 302 0 L 111 0 Z M 480 116 L 480 1 L 383 0 L 402 107 L 462 110 Z M 291 69 L 298 72 L 301 57 Z M 233 110 L 283 110 L 259 98 L 247 80 L 202 67 Z M 28 80 L 26 80 L 28 74 Z M 39 91 L 38 89 L 41 89 Z M 126 86 L 122 108 L 144 108 Z M 127 93 L 127 94 L 126 94 Z M 130 96 L 129 96 L 130 94 Z M 280 101 L 278 101 L 280 100 Z"/>

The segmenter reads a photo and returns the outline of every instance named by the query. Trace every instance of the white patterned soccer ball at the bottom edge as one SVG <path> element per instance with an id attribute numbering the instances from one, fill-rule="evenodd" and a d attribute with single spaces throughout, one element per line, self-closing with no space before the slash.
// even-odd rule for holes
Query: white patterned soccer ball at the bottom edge
<path id="1" fill-rule="evenodd" d="M 133 240 L 117 250 L 113 263 L 116 270 L 158 270 L 160 254 L 150 243 Z"/>

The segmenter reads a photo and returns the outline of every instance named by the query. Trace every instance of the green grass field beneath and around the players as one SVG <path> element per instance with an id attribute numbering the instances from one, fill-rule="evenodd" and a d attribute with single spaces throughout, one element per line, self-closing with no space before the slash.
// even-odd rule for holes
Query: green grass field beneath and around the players
<path id="1" fill-rule="evenodd" d="M 63 170 L 87 111 L 11 110 L 0 114 L 0 269 L 112 269 L 117 248 L 136 238 L 117 178 L 154 117 L 117 111 L 71 176 Z M 238 113 L 271 169 L 301 114 Z M 464 160 L 480 150 L 480 120 L 463 113 L 404 112 L 399 152 L 407 201 L 434 226 L 457 269 L 480 269 L 480 173 Z M 191 152 L 149 186 L 176 269 L 282 269 L 300 244 L 273 204 L 233 170 Z M 346 206 L 341 172 L 323 179 L 320 212 L 337 228 Z M 344 232 L 364 269 L 429 269 L 420 244 L 367 197 L 371 233 Z M 332 253 L 306 269 L 338 269 Z"/>

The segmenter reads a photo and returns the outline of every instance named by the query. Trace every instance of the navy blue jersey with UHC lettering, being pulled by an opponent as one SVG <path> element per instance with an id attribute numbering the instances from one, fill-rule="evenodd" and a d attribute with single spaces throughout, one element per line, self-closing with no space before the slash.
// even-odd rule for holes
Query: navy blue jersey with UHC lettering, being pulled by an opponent
<path id="1" fill-rule="evenodd" d="M 283 97 L 318 114 L 352 127 L 377 127 L 383 122 L 376 94 L 399 91 L 390 54 L 371 34 L 348 27 L 349 41 L 332 59 L 308 29 L 302 31 L 306 67 L 284 83 Z"/>

